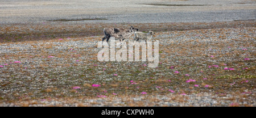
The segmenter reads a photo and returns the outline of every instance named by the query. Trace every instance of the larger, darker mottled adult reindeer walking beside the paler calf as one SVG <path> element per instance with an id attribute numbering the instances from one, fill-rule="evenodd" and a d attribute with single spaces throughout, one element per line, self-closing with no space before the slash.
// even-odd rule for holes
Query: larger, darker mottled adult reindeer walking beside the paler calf
<path id="1" fill-rule="evenodd" d="M 102 38 L 102 43 L 106 39 L 106 42 L 109 43 L 110 37 L 115 37 L 115 40 L 124 41 L 129 38 L 135 31 L 139 31 L 139 29 L 131 26 L 129 29 L 125 28 L 104 28 L 103 32 L 105 36 Z"/>

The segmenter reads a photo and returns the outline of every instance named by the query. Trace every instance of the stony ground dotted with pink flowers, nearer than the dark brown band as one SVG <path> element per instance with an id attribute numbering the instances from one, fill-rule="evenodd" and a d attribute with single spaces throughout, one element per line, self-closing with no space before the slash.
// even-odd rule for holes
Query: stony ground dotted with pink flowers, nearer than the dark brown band
<path id="1" fill-rule="evenodd" d="M 256 106 L 254 32 L 255 27 L 158 32 L 154 39 L 163 53 L 155 69 L 141 68 L 147 62 L 98 62 L 101 36 L 3 43 L 1 106 Z M 172 66 L 183 74 L 172 74 Z M 101 87 L 92 87 L 96 83 Z"/>

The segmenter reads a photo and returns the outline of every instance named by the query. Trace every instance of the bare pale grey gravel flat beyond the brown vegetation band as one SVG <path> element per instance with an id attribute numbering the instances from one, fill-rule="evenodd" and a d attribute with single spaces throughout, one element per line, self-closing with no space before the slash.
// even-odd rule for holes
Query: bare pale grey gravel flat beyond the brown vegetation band
<path id="1" fill-rule="evenodd" d="M 255 20 L 255 1 L 0 1 L 0 23 L 42 23 L 58 19 L 82 23 L 180 23 Z M 160 5 L 160 6 L 159 6 Z M 169 5 L 169 6 L 168 6 Z M 181 6 L 179 6 L 181 5 Z"/>

